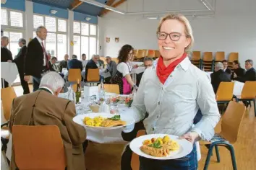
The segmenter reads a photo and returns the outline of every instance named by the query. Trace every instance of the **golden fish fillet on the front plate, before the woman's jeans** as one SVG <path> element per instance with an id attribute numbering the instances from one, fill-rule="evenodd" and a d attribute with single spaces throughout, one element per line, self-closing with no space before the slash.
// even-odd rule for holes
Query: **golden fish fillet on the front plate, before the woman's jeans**
<path id="1" fill-rule="evenodd" d="M 167 145 L 163 145 L 161 148 L 153 148 L 150 146 L 143 145 L 140 147 L 140 150 L 144 153 L 147 153 L 150 156 L 163 157 L 168 156 L 170 149 Z"/>

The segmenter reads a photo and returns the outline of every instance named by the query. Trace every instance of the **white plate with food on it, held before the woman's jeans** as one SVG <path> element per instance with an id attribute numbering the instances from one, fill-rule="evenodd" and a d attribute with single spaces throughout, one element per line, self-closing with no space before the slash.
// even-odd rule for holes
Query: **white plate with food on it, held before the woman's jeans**
<path id="1" fill-rule="evenodd" d="M 193 148 L 188 140 L 168 134 L 142 135 L 132 140 L 129 147 L 139 156 L 158 160 L 182 158 Z"/>

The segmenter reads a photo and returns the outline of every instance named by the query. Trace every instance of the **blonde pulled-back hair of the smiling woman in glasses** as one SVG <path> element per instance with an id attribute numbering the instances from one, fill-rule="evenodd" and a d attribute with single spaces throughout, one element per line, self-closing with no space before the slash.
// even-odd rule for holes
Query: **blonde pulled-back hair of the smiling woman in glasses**
<path id="1" fill-rule="evenodd" d="M 193 36 L 193 32 L 192 32 L 192 27 L 189 24 L 189 20 L 183 14 L 168 14 L 165 17 L 163 17 L 158 24 L 157 32 L 160 32 L 163 22 L 165 22 L 168 19 L 175 19 L 175 20 L 178 20 L 179 22 L 182 22 L 182 24 L 184 24 L 185 35 L 186 35 L 186 37 L 190 37 L 190 39 L 191 39 L 190 44 L 187 45 L 185 50 L 187 51 L 190 48 L 192 48 L 192 45 L 194 44 L 194 36 Z"/>

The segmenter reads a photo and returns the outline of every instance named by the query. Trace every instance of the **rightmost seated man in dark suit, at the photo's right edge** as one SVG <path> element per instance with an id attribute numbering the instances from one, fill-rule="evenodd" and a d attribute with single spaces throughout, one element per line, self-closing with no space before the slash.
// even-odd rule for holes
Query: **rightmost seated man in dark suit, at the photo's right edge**
<path id="1" fill-rule="evenodd" d="M 241 82 L 245 81 L 256 81 L 256 70 L 253 68 L 253 61 L 245 61 L 245 68 L 247 69 L 244 76 L 236 76 L 236 79 Z"/>

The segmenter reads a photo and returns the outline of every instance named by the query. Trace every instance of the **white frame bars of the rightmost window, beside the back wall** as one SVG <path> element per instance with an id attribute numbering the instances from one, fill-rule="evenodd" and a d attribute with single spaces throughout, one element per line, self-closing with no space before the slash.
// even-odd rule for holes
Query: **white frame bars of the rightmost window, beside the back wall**
<path id="1" fill-rule="evenodd" d="M 86 54 L 87 56 L 87 60 L 90 60 L 90 58 L 92 56 L 90 56 L 90 37 L 95 37 L 96 38 L 96 53 L 95 54 L 98 54 L 98 24 L 91 24 L 89 22 L 82 22 L 82 21 L 77 21 L 77 20 L 74 20 L 73 22 L 80 22 L 80 34 L 78 33 L 74 33 L 74 30 L 72 32 L 73 36 L 76 35 L 76 36 L 80 36 L 80 54 L 82 55 L 82 37 L 88 37 L 88 54 Z M 85 24 L 88 24 L 88 35 L 82 35 L 82 23 L 85 23 Z M 90 25 L 94 25 L 96 27 L 96 35 L 90 35 Z M 74 29 L 74 28 L 73 28 Z M 73 46 L 73 53 L 74 53 L 74 46 Z M 82 56 L 77 56 L 77 58 L 80 58 L 82 59 Z"/>

